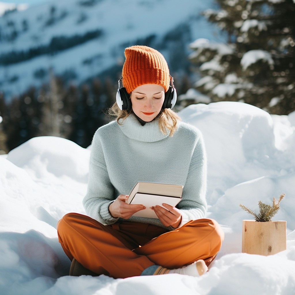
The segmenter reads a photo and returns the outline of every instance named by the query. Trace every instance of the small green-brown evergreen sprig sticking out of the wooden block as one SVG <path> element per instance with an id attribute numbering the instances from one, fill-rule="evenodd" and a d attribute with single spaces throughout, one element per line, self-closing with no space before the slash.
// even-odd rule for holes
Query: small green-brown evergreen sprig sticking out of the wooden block
<path id="1" fill-rule="evenodd" d="M 248 213 L 252 214 L 255 218 L 255 221 L 258 222 L 268 222 L 271 221 L 271 219 L 278 213 L 278 210 L 280 209 L 280 202 L 283 199 L 285 194 L 281 194 L 279 197 L 277 203 L 275 197 L 273 197 L 273 205 L 268 205 L 263 203 L 262 201 L 258 202 L 259 207 L 259 213 L 255 213 L 249 208 L 245 207 L 244 205 L 240 204 L 240 207 L 247 211 Z"/>

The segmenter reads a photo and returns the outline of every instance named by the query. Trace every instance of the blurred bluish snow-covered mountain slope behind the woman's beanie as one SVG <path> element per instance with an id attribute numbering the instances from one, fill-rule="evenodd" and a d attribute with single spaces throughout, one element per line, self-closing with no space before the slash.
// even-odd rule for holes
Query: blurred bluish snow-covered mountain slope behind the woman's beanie
<path id="1" fill-rule="evenodd" d="M 53 0 L 0 17 L 0 90 L 5 98 L 49 80 L 49 68 L 81 82 L 120 68 L 124 48 L 160 50 L 172 72 L 188 64 L 188 44 L 214 39 L 200 15 L 212 0 Z"/>

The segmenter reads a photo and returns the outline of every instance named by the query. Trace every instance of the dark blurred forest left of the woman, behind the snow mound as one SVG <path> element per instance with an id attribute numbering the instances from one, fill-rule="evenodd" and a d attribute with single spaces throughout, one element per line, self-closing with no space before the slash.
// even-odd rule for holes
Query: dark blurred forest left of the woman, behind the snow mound
<path id="1" fill-rule="evenodd" d="M 49 85 L 30 87 L 9 102 L 0 92 L 0 154 L 37 136 L 64 137 L 86 148 L 96 129 L 110 120 L 106 113 L 114 103 L 115 88 L 109 78 L 64 85 L 51 73 Z"/>

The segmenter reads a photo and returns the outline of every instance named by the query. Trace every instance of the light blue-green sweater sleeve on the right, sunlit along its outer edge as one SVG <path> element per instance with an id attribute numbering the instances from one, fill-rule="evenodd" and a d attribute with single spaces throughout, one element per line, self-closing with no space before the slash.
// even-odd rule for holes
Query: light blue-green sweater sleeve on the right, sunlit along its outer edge
<path id="1" fill-rule="evenodd" d="M 181 223 L 204 218 L 207 212 L 207 155 L 204 140 L 199 133 L 192 154 L 186 183 L 183 187 L 182 200 L 176 206 L 181 211 Z M 175 229 L 174 227 L 170 228 Z"/>

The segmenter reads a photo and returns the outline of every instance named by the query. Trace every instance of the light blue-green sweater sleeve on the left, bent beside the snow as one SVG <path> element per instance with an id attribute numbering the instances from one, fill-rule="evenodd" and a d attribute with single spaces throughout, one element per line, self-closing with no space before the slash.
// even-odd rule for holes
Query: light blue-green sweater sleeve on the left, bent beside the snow
<path id="1" fill-rule="evenodd" d="M 106 168 L 104 151 L 98 132 L 92 140 L 87 193 L 83 199 L 86 213 L 102 224 L 113 224 L 119 218 L 109 213 L 109 205 L 114 201 L 114 186 Z"/>

